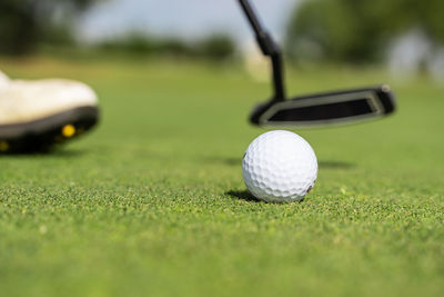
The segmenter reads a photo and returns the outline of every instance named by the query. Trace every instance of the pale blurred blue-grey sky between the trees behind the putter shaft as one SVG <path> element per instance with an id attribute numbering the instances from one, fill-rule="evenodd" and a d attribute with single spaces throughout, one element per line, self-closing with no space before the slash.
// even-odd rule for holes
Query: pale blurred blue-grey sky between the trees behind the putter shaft
<path id="1" fill-rule="evenodd" d="M 278 37 L 300 0 L 251 0 L 266 27 Z M 87 41 L 109 39 L 128 31 L 195 39 L 226 32 L 242 41 L 251 37 L 238 0 L 108 0 L 88 11 L 78 34 Z"/>

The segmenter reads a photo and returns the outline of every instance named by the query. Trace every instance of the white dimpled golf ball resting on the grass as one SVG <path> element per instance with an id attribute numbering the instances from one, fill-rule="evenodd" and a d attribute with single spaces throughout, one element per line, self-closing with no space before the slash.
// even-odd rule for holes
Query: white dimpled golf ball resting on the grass
<path id="1" fill-rule="evenodd" d="M 317 160 L 302 137 L 289 131 L 271 131 L 258 137 L 242 161 L 246 187 L 268 202 L 300 201 L 314 187 Z"/>

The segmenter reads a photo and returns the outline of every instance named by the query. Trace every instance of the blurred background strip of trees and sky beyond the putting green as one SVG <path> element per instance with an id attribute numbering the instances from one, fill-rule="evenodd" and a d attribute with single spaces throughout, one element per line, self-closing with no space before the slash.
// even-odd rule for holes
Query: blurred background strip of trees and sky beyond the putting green
<path id="1" fill-rule="evenodd" d="M 236 2 L 2 0 L 0 55 L 242 60 L 260 79 L 263 62 Z M 299 67 L 377 65 L 396 78 L 444 81 L 443 1 L 253 2 Z"/>

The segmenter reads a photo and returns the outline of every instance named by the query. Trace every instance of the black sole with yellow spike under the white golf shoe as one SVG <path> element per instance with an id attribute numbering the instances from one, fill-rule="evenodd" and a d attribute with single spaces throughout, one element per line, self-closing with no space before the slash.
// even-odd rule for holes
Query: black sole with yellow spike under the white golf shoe
<path id="1" fill-rule="evenodd" d="M 99 113 L 98 107 L 79 107 L 33 121 L 0 125 L 0 154 L 47 152 L 89 131 Z"/>

